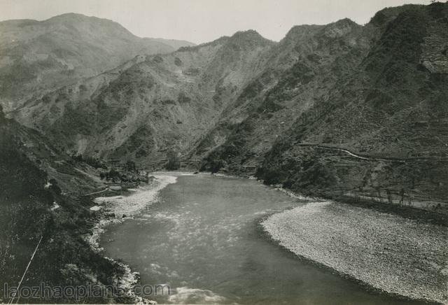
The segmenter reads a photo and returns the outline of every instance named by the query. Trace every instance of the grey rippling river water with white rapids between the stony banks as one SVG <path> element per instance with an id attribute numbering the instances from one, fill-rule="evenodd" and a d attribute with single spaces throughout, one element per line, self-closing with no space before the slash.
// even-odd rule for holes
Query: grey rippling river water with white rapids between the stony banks
<path id="1" fill-rule="evenodd" d="M 300 260 L 262 232 L 262 218 L 304 204 L 255 180 L 179 176 L 157 202 L 102 236 L 159 303 L 409 304 Z"/>

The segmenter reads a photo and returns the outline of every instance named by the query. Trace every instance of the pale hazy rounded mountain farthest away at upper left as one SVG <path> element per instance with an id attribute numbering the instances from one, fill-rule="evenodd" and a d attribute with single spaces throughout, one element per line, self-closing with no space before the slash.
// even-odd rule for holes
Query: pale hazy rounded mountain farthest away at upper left
<path id="1" fill-rule="evenodd" d="M 68 13 L 44 21 L 0 22 L 0 104 L 6 112 L 47 90 L 115 68 L 138 54 L 167 53 L 186 41 L 139 38 L 111 20 Z"/>

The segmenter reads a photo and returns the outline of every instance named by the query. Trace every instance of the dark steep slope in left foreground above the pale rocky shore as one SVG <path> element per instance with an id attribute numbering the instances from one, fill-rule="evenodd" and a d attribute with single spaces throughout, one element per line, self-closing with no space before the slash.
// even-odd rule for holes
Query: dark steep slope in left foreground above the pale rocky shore
<path id="1" fill-rule="evenodd" d="M 114 277 L 123 276 L 123 267 L 94 253 L 81 238 L 92 234 L 97 218 L 89 209 L 93 203 L 79 197 L 96 184 L 88 168 L 35 130 L 5 119 L 0 106 L 0 302 L 10 301 L 11 288 L 17 287 L 37 244 L 22 287 L 115 285 Z M 40 302 L 73 302 L 51 293 L 40 297 Z M 81 296 L 82 302 L 94 303 L 112 297 Z"/>

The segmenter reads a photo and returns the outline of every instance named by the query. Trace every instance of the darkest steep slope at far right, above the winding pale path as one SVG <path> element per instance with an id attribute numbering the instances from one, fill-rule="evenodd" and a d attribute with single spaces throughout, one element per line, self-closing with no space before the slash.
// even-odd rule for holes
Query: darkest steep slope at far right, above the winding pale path
<path id="1" fill-rule="evenodd" d="M 409 7 L 389 22 L 353 75 L 315 109 L 322 118 L 307 122 L 301 140 L 395 157 L 446 152 L 448 7 L 439 4 Z"/>

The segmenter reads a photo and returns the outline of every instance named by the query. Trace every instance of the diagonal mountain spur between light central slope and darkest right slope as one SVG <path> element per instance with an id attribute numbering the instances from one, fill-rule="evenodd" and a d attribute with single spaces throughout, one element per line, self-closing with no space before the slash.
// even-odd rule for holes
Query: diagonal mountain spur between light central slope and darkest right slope
<path id="1" fill-rule="evenodd" d="M 337 80 L 359 64 L 374 32 L 348 19 L 291 29 L 270 50 L 265 70 L 199 143 L 197 154 L 223 144 L 207 159 L 222 165 L 228 162 L 230 171 L 239 171 L 241 164 L 253 169 L 295 118 L 328 99 Z M 235 118 L 239 118 L 235 125 L 225 125 Z M 224 134 L 223 127 L 228 137 L 216 136 Z"/>

